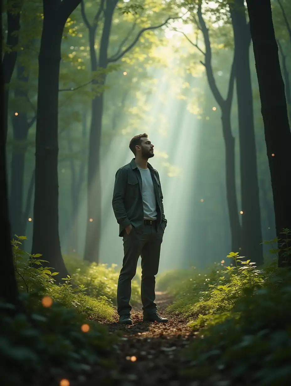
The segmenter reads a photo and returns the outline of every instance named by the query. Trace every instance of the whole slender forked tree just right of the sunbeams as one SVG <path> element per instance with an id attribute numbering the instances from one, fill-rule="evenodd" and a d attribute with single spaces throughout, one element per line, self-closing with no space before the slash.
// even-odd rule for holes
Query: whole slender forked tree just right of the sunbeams
<path id="1" fill-rule="evenodd" d="M 201 31 L 204 37 L 205 62 L 203 63 L 206 69 L 206 76 L 209 87 L 213 93 L 213 96 L 221 109 L 221 123 L 223 130 L 223 139 L 225 142 L 225 171 L 226 171 L 226 198 L 228 205 L 228 216 L 230 220 L 230 232 L 231 232 L 231 249 L 233 252 L 239 251 L 241 248 L 241 226 L 238 218 L 238 205 L 237 205 L 237 190 L 235 181 L 235 139 L 231 131 L 231 104 L 233 100 L 233 84 L 235 79 L 235 61 L 231 67 L 230 80 L 228 85 L 228 95 L 226 99 L 223 99 L 220 91 L 216 85 L 216 81 L 213 75 L 213 69 L 211 65 L 211 44 L 209 40 L 209 32 L 204 22 L 201 5 L 198 6 L 197 15 Z M 188 39 L 189 40 L 189 39 Z M 197 44 L 192 43 L 197 47 Z M 198 48 L 198 47 L 197 47 Z"/>

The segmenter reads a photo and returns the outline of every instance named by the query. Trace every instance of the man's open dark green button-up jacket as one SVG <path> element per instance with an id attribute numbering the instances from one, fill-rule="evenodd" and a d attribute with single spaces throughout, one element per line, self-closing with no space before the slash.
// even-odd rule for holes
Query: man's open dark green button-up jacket
<path id="1" fill-rule="evenodd" d="M 167 220 L 164 214 L 163 193 L 160 177 L 149 163 L 155 195 L 157 199 L 157 224 L 165 229 Z M 112 208 L 117 222 L 119 223 L 119 236 L 123 236 L 124 228 L 132 224 L 136 232 L 143 233 L 143 199 L 142 199 L 141 174 L 134 162 L 118 169 L 115 175 L 115 183 L 112 198 Z"/>

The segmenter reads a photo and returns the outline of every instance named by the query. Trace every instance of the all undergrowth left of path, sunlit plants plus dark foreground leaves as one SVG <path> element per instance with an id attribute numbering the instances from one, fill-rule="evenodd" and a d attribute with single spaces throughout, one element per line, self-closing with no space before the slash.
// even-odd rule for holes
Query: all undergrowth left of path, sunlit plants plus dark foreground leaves
<path id="1" fill-rule="evenodd" d="M 70 276 L 56 285 L 58 273 L 48 262 L 40 254 L 27 254 L 21 249 L 25 239 L 16 236 L 12 251 L 26 313 L 14 315 L 14 307 L 0 301 L 2 383 L 51 385 L 59 384 L 61 379 L 85 380 L 92 366 L 109 371 L 117 337 L 94 322 L 113 319 L 107 287 L 92 297 L 84 284 L 73 285 Z"/>

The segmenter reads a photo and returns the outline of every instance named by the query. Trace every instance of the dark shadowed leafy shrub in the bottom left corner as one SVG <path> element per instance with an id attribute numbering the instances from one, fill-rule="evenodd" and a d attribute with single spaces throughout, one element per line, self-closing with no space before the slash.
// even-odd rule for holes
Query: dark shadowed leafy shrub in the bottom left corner
<path id="1" fill-rule="evenodd" d="M 38 301 L 31 303 L 32 296 Z M 56 379 L 76 379 L 77 374 L 83 376 L 92 365 L 110 365 L 114 338 L 104 326 L 89 322 L 60 302 L 44 307 L 34 292 L 23 293 L 22 301 L 29 305 L 30 317 L 17 315 L 12 318 L 5 311 L 13 306 L 0 303 L 3 385 L 57 384 Z M 88 332 L 81 330 L 84 324 L 89 326 Z"/>

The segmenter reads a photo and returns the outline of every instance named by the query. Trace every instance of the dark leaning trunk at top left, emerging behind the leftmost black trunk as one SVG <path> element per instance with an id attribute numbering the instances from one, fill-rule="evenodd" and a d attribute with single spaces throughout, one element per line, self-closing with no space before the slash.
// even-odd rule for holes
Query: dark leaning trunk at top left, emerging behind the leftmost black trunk
<path id="1" fill-rule="evenodd" d="M 3 81 L 4 81 L 4 140 L 7 139 L 8 131 L 8 99 L 9 99 L 9 83 L 15 68 L 17 59 L 16 46 L 19 41 L 20 30 L 20 12 L 22 10 L 23 0 L 7 1 L 7 39 L 6 46 L 9 51 L 3 56 Z M 11 50 L 11 51 L 10 51 Z"/>

